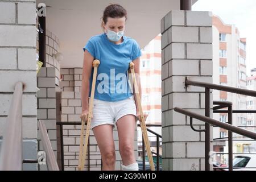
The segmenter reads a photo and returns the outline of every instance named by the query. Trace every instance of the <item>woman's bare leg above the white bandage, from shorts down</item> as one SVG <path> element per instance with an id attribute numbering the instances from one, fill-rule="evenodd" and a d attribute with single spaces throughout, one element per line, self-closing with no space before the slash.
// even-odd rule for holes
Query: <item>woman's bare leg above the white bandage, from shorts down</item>
<path id="1" fill-rule="evenodd" d="M 127 114 L 117 120 L 119 152 L 124 166 L 136 163 L 134 155 L 135 115 Z M 133 165 L 134 166 L 134 165 Z"/>

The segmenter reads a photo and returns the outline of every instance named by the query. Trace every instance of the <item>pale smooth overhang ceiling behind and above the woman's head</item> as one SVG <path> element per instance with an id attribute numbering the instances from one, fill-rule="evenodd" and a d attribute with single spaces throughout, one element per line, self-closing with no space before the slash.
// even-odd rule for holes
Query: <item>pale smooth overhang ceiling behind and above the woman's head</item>
<path id="1" fill-rule="evenodd" d="M 61 68 L 82 67 L 87 40 L 101 34 L 101 16 L 110 3 L 127 10 L 125 35 L 134 38 L 142 48 L 160 34 L 160 20 L 171 10 L 180 9 L 180 0 L 37 0 L 47 5 L 46 27 L 60 40 L 63 53 Z"/>

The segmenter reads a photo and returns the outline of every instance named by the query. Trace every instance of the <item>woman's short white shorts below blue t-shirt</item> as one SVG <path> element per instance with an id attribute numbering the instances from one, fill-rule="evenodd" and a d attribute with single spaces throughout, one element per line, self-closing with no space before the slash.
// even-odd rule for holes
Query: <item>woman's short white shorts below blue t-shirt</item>
<path id="1" fill-rule="evenodd" d="M 93 118 L 91 120 L 91 129 L 98 125 L 109 124 L 115 127 L 119 118 L 127 114 L 136 115 L 136 104 L 133 96 L 121 101 L 102 101 L 94 98 L 93 100 Z"/>

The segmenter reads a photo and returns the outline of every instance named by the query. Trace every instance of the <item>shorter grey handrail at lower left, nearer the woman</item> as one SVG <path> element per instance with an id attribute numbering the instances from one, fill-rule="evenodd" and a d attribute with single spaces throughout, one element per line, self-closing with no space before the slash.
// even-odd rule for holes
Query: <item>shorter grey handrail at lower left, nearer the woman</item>
<path id="1" fill-rule="evenodd" d="M 49 171 L 59 171 L 59 166 L 55 158 L 54 152 L 52 150 L 51 142 L 49 140 L 46 125 L 44 122 L 39 120 L 38 127 L 40 134 L 42 136 L 42 144 L 44 151 L 46 152 L 46 164 Z"/>

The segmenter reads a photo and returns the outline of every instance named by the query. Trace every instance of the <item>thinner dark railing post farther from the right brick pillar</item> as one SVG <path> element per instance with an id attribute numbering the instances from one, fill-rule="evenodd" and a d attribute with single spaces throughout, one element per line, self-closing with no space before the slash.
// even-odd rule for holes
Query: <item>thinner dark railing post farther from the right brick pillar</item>
<path id="1" fill-rule="evenodd" d="M 232 105 L 228 106 L 228 123 L 232 125 Z M 229 137 L 229 171 L 233 171 L 233 133 L 228 131 Z"/>

